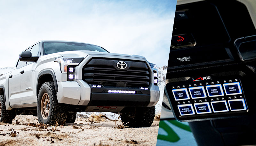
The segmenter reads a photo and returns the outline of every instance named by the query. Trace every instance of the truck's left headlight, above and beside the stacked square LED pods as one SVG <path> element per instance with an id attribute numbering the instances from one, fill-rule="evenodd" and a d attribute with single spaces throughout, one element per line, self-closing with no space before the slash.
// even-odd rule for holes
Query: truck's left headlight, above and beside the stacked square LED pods
<path id="1" fill-rule="evenodd" d="M 77 58 L 56 58 L 54 60 L 54 62 L 59 62 L 60 63 L 60 70 L 61 73 L 67 73 L 68 70 L 68 65 L 73 67 L 73 71 L 72 68 L 69 72 L 74 72 L 74 67 L 77 66 L 80 62 L 82 62 L 84 58 L 82 57 L 77 57 Z"/>

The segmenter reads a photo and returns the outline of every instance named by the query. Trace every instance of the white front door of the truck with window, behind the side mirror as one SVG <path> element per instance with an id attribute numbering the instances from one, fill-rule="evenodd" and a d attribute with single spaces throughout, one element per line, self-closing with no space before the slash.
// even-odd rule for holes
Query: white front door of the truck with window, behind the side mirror
<path id="1" fill-rule="evenodd" d="M 32 56 L 39 56 L 39 43 L 32 46 L 30 50 Z M 24 73 L 20 75 L 21 103 L 36 103 L 36 79 L 35 79 L 36 62 L 27 62 L 24 67 Z"/>

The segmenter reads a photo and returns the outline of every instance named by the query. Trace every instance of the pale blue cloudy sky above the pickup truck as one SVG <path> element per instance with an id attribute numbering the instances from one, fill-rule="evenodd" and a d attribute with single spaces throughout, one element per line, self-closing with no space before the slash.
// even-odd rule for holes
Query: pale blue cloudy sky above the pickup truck
<path id="1" fill-rule="evenodd" d="M 0 0 L 0 68 L 38 40 L 95 44 L 168 64 L 176 0 Z"/>

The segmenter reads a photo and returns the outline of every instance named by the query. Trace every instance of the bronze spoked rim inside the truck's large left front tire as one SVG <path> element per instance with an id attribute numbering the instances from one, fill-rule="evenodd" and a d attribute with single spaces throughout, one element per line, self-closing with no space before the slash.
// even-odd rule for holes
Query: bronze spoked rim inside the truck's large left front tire
<path id="1" fill-rule="evenodd" d="M 44 93 L 41 100 L 41 115 L 46 120 L 50 113 L 50 99 L 48 93 Z"/>

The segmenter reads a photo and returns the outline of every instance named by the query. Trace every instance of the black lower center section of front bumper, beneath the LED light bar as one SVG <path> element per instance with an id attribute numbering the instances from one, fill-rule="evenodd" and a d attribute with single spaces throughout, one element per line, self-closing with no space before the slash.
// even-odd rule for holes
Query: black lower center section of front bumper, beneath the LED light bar
<path id="1" fill-rule="evenodd" d="M 88 106 L 148 106 L 150 94 L 91 93 Z"/>

